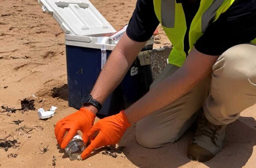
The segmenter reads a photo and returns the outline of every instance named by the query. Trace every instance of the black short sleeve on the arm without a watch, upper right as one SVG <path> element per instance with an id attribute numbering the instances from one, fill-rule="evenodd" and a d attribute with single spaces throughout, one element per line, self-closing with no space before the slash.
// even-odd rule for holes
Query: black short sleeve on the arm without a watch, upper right
<path id="1" fill-rule="evenodd" d="M 221 55 L 232 46 L 256 38 L 256 0 L 235 0 L 217 21 L 208 26 L 195 48 L 208 55 Z"/>

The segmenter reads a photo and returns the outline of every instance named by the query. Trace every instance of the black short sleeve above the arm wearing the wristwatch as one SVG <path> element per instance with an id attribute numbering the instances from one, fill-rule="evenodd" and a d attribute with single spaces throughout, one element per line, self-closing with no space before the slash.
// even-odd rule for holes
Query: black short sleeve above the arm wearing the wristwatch
<path id="1" fill-rule="evenodd" d="M 126 34 L 134 41 L 144 42 L 153 35 L 158 25 L 153 0 L 138 0 Z"/>

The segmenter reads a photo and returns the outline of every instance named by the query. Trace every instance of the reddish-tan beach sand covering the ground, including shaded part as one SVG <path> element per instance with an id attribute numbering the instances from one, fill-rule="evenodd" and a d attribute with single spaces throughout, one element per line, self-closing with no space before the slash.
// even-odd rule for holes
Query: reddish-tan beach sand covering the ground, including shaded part
<path id="1" fill-rule="evenodd" d="M 136 0 L 91 2 L 115 29 L 119 29 L 128 23 Z M 161 27 L 159 32 L 161 44 L 154 47 L 170 45 Z M 245 110 L 242 117 L 228 125 L 223 150 L 206 163 L 191 161 L 186 156 L 194 130 L 189 130 L 174 144 L 146 149 L 135 141 L 135 126 L 130 127 L 121 140 L 120 145 L 125 148 L 116 158 L 98 153 L 84 161 L 70 161 L 57 146 L 53 131 L 59 119 L 76 111 L 68 107 L 66 84 L 64 33 L 56 21 L 42 12 L 36 0 L 0 0 L 0 106 L 20 108 L 20 100 L 28 97 L 35 99 L 37 109 L 58 107 L 55 116 L 48 120 L 39 120 L 36 110 L 0 115 L 0 139 L 11 134 L 9 139 L 17 139 L 19 143 L 16 144 L 19 147 L 8 151 L 0 149 L 0 168 L 54 167 L 53 155 L 56 168 L 256 167 L 256 106 Z M 10 124 L 14 120 L 24 121 L 19 125 Z M 34 129 L 29 134 L 16 131 L 23 126 Z M 47 146 L 49 150 L 40 154 L 39 148 Z"/>

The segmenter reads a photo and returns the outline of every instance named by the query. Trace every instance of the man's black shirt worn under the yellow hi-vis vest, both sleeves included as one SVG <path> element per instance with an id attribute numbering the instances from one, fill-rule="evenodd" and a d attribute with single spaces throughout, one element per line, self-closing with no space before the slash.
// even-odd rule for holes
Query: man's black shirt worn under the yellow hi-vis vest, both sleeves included
<path id="1" fill-rule="evenodd" d="M 184 9 L 187 28 L 198 10 L 200 0 L 176 0 Z M 138 0 L 127 27 L 127 35 L 134 41 L 147 41 L 158 26 L 153 0 Z M 204 54 L 221 55 L 228 48 L 249 43 L 256 38 L 256 0 L 235 0 L 216 22 L 211 23 L 197 40 L 195 48 Z M 188 30 L 184 50 L 189 49 Z"/>

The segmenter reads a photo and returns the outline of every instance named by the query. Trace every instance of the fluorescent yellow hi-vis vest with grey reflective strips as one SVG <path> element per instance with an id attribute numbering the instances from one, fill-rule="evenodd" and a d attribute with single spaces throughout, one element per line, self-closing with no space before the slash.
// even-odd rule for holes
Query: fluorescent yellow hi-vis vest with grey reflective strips
<path id="1" fill-rule="evenodd" d="M 181 67 L 186 59 L 184 37 L 187 30 L 185 14 L 181 3 L 176 0 L 153 0 L 156 16 L 173 45 L 168 63 Z M 189 30 L 189 51 L 204 34 L 210 22 L 215 22 L 227 11 L 235 0 L 201 0 Z M 256 43 L 256 38 L 251 42 Z"/>

